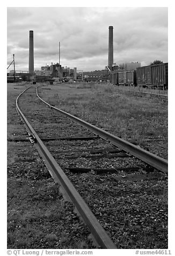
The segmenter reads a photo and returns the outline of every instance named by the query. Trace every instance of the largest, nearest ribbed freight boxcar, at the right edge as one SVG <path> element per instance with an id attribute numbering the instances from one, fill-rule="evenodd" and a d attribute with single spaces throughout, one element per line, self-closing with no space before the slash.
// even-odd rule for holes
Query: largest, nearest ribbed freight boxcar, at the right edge
<path id="1" fill-rule="evenodd" d="M 143 88 L 167 89 L 168 63 L 137 68 L 137 85 Z"/>

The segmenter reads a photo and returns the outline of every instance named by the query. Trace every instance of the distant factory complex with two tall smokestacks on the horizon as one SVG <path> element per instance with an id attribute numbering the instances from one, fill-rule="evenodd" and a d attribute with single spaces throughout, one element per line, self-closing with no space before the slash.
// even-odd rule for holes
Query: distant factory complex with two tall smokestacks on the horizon
<path id="1" fill-rule="evenodd" d="M 59 42 L 59 63 L 51 63 L 51 65 L 42 66 L 40 70 L 34 70 L 34 34 L 33 31 L 29 31 L 29 58 L 28 58 L 28 71 L 17 72 L 11 70 L 9 76 L 19 76 L 24 81 L 37 80 L 40 82 L 50 81 L 54 78 L 60 81 L 68 81 L 73 79 L 75 81 L 113 81 L 111 77 L 115 77 L 115 73 L 120 70 L 136 70 L 141 67 L 139 62 L 126 62 L 116 65 L 113 63 L 113 26 L 109 26 L 108 34 L 108 66 L 104 70 L 95 70 L 92 72 L 78 71 L 76 67 L 62 67 L 60 65 L 60 42 Z"/>

